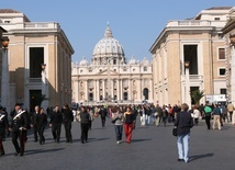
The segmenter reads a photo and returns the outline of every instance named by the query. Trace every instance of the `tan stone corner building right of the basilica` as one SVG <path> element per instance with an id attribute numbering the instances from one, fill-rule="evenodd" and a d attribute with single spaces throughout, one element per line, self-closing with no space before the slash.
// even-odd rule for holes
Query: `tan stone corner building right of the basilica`
<path id="1" fill-rule="evenodd" d="M 191 104 L 193 90 L 225 97 L 227 58 L 222 29 L 231 9 L 202 10 L 192 19 L 169 21 L 164 27 L 149 49 L 154 100 L 159 104 Z"/>

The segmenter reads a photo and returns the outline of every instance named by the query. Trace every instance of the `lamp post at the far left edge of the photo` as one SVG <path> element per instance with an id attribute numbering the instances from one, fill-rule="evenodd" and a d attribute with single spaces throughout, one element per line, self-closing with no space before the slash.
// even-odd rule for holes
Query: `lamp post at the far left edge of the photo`
<path id="1" fill-rule="evenodd" d="M 10 111 L 10 78 L 9 78 L 9 63 L 8 63 L 8 36 L 1 38 L 2 45 L 2 70 L 1 70 L 1 105 Z"/>

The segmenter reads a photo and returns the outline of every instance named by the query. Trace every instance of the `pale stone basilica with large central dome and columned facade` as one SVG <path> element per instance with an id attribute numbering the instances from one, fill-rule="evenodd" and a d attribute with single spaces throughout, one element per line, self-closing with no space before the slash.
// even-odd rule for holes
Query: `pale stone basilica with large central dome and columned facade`
<path id="1" fill-rule="evenodd" d="M 91 63 L 83 57 L 71 64 L 71 89 L 72 102 L 78 104 L 153 102 L 152 63 L 134 56 L 127 61 L 108 25 L 93 48 Z"/>

